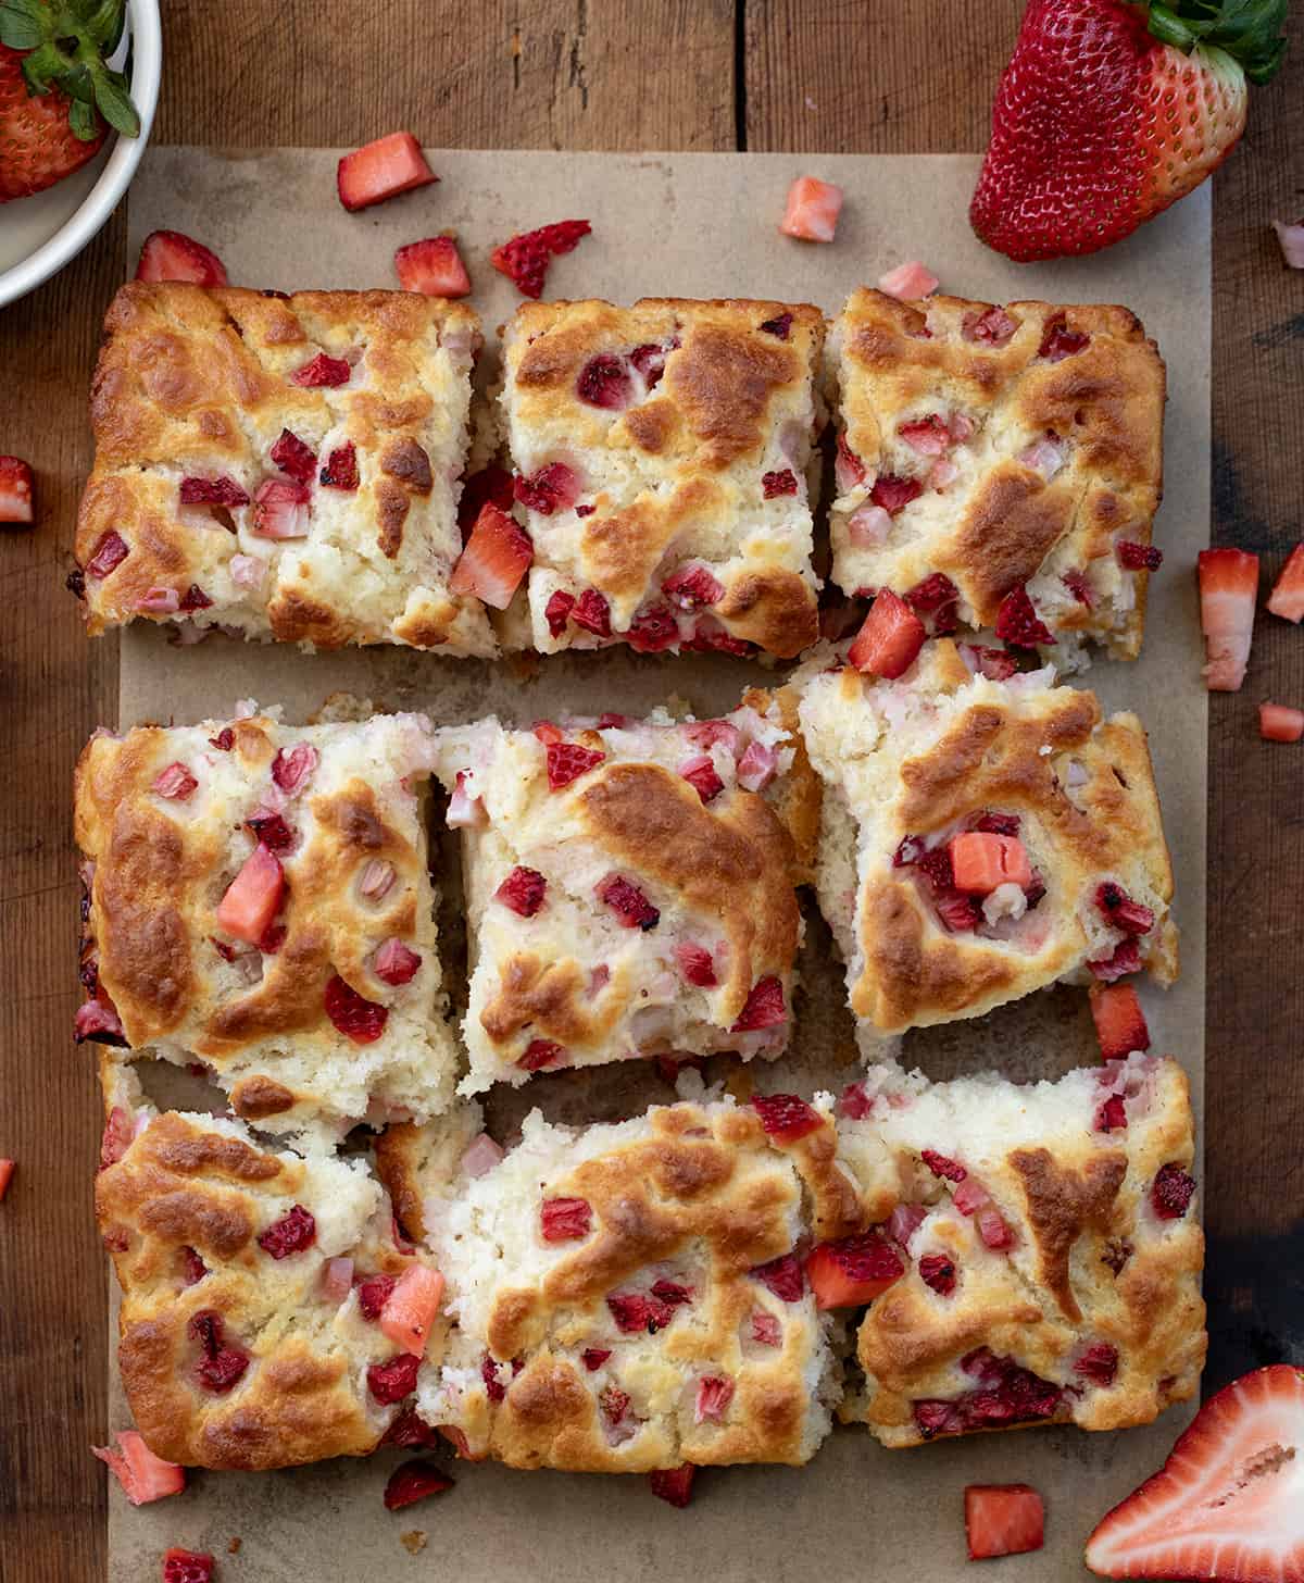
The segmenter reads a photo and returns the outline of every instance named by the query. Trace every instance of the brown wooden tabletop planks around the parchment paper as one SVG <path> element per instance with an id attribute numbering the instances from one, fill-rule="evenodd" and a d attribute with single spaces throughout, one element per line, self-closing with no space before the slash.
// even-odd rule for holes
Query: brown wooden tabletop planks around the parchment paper
<path id="1" fill-rule="evenodd" d="M 546 149 L 978 150 L 1019 0 L 165 0 L 160 142 Z M 1214 538 L 1276 575 L 1304 537 L 1304 274 L 1269 222 L 1304 211 L 1304 24 L 1214 188 Z M 1295 169 L 1290 157 L 1295 155 Z M 0 223 L 3 223 L 0 211 Z M 87 380 L 130 266 L 125 214 L 0 310 L 0 451 L 40 516 L 0 543 L 0 1583 L 104 1577 L 106 1263 L 92 1224 L 100 1110 L 78 1005 L 70 776 L 112 720 L 117 649 L 65 592 L 90 465 Z M 1195 589 L 1192 589 L 1195 598 Z M 1192 655 L 1192 665 L 1198 657 Z M 1304 749 L 1255 704 L 1304 703 L 1304 630 L 1264 619 L 1211 708 L 1206 1382 L 1301 1346 Z M 1179 877 L 1181 879 L 1181 877 Z M 1299 1352 L 1296 1361 L 1304 1361 Z"/>

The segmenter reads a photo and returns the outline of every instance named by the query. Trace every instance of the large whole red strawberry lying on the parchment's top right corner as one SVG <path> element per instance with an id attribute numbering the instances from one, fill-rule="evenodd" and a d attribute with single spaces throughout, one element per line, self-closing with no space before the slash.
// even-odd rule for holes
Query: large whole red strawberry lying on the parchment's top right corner
<path id="1" fill-rule="evenodd" d="M 1247 79 L 1280 65 L 1288 0 L 1029 0 L 970 204 L 1027 261 L 1094 253 L 1215 169 L 1245 130 Z"/>

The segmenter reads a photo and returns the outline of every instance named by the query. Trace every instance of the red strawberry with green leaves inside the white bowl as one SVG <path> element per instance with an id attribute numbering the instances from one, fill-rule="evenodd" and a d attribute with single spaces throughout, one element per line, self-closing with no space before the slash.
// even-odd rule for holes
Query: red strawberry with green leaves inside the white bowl
<path id="1" fill-rule="evenodd" d="M 109 127 L 141 130 L 127 79 L 104 65 L 122 36 L 123 0 L 0 5 L 0 203 L 81 169 Z"/>

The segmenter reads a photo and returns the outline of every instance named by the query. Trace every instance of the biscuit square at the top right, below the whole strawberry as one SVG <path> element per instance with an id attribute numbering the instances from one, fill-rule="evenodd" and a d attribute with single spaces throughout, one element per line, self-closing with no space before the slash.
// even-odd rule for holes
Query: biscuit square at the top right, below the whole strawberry
<path id="1" fill-rule="evenodd" d="M 1084 662 L 1087 640 L 1136 659 L 1165 369 L 1133 313 L 862 288 L 829 361 L 843 592 L 891 587 L 946 632 L 997 625 L 1011 594 L 1013 619 L 1022 589 L 1062 670 Z M 1019 630 L 1032 646 L 1027 613 Z"/>

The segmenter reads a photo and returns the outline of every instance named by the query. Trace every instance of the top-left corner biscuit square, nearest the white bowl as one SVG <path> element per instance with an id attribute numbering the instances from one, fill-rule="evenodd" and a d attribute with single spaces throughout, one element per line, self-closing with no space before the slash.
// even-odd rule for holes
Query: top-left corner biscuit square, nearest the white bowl
<path id="1" fill-rule="evenodd" d="M 76 530 L 87 630 L 188 621 L 495 652 L 449 592 L 480 321 L 405 291 L 131 282 L 104 320 Z"/>

